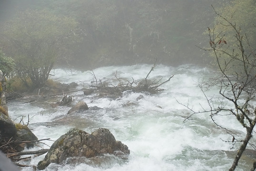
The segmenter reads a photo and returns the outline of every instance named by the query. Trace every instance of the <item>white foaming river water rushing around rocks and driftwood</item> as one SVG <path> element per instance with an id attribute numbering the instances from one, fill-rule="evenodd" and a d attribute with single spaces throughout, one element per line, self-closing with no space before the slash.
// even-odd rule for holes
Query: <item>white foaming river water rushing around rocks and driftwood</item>
<path id="1" fill-rule="evenodd" d="M 115 78 L 124 83 L 140 80 L 147 76 L 150 65 L 134 66 L 108 66 L 94 70 L 97 79 L 108 80 L 108 85 L 117 85 Z M 76 82 L 78 88 L 88 88 L 94 81 L 91 71 L 55 69 L 51 79 L 61 83 Z M 198 87 L 198 82 L 213 75 L 207 68 L 184 65 L 170 67 L 158 65 L 149 75 L 149 79 L 162 80 L 164 82 L 170 76 L 174 77 L 162 85 L 165 89 L 157 95 L 147 93 L 125 92 L 122 98 L 112 100 L 110 98 L 94 98 L 93 95 L 85 96 L 83 92 L 70 94 L 73 102 L 70 106 L 51 108 L 50 103 L 61 100 L 62 95 L 52 98 L 39 98 L 32 103 L 24 103 L 30 97 L 22 100 L 10 101 L 9 115 L 15 122 L 28 121 L 32 132 L 39 138 L 51 138 L 57 140 L 62 134 L 71 128 L 82 129 L 88 133 L 100 127 L 110 130 L 116 140 L 126 144 L 130 150 L 128 160 L 118 159 L 106 155 L 97 162 L 97 159 L 89 161 L 85 158 L 76 160 L 76 163 L 67 160 L 62 164 L 50 164 L 45 171 L 225 171 L 231 166 L 233 157 L 231 152 L 238 148 L 238 143 L 233 145 L 231 135 L 217 127 L 209 117 L 209 114 L 193 115 L 184 123 L 184 119 L 191 114 L 183 104 L 188 104 L 195 111 L 207 108 L 207 100 Z M 218 89 L 207 91 L 207 95 L 218 101 Z M 144 98 L 136 100 L 139 95 Z M 214 96 L 213 96 L 214 95 Z M 99 110 L 89 110 L 78 114 L 67 115 L 70 107 L 83 100 L 89 107 L 98 106 Z M 179 103 L 178 103 L 179 102 Z M 131 105 L 130 105 L 131 104 Z M 228 105 L 228 104 L 227 104 Z M 245 136 L 245 130 L 232 116 L 219 116 L 215 118 L 217 123 L 233 129 Z M 252 141 L 255 142 L 253 139 Z M 49 146 L 53 143 L 45 141 Z M 45 144 L 39 144 L 43 148 L 49 148 Z M 232 148 L 233 147 L 233 148 Z M 35 147 L 32 150 L 39 150 Z M 28 150 L 28 149 L 26 149 Z M 31 150 L 31 149 L 30 149 Z M 23 164 L 37 165 L 44 155 L 33 157 Z M 248 171 L 251 163 L 241 160 L 237 171 Z M 32 171 L 31 167 L 22 171 Z"/>

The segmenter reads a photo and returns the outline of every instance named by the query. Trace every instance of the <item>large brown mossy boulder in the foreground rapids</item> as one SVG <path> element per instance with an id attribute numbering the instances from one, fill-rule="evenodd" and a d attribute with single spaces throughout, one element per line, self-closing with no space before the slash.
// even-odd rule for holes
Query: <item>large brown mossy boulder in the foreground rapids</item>
<path id="1" fill-rule="evenodd" d="M 50 163 L 61 163 L 68 157 L 92 158 L 102 154 L 128 155 L 127 145 L 116 141 L 108 129 L 99 128 L 89 134 L 78 129 L 71 129 L 59 137 L 49 149 L 43 161 L 39 161 L 38 169 L 45 169 Z"/>

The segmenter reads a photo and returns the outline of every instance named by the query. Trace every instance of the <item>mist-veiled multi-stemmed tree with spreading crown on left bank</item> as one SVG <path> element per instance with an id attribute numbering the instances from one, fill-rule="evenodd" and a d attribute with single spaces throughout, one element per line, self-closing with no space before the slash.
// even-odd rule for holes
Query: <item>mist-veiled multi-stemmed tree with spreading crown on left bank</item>
<path id="1" fill-rule="evenodd" d="M 49 10 L 26 10 L 3 28 L 5 52 L 15 59 L 16 74 L 25 85 L 41 87 L 58 57 L 69 54 L 79 41 L 75 19 L 56 16 Z"/>

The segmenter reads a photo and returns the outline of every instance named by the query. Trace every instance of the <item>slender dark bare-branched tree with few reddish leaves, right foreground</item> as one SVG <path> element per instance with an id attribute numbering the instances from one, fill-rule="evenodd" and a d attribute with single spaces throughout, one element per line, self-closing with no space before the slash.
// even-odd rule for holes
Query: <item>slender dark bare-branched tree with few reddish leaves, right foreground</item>
<path id="1" fill-rule="evenodd" d="M 223 17 L 213 6 L 212 8 L 216 15 L 225 22 L 219 24 L 232 28 L 234 40 L 232 45 L 229 45 L 223 31 L 217 32 L 216 27 L 208 28 L 210 47 L 201 49 L 212 52 L 220 73 L 219 76 L 211 78 L 209 81 L 199 83 L 209 109 L 201 105 L 202 110 L 196 112 L 188 104 L 182 104 L 192 112 L 184 122 L 188 121 L 194 114 L 209 113 L 213 123 L 231 135 L 232 141 L 225 142 L 232 142 L 232 148 L 234 147 L 234 143 L 241 143 L 232 166 L 229 169 L 229 171 L 234 171 L 246 146 L 249 144 L 254 148 L 256 147 L 253 143 L 249 142 L 256 124 L 256 49 L 250 45 L 247 35 L 241 34 L 241 28 L 236 23 L 232 23 Z M 218 94 L 222 97 L 218 103 L 213 102 L 213 97 L 208 97 L 205 90 L 203 90 L 203 88 L 208 90 L 214 86 L 219 88 Z M 224 104 L 224 100 L 229 105 Z M 230 104 L 232 107 L 230 107 Z M 246 136 L 243 140 L 237 140 L 238 135 L 227 129 L 227 125 L 220 125 L 216 122 L 215 117 L 223 115 L 234 116 L 238 123 L 246 128 Z M 254 163 L 251 171 L 254 171 L 255 168 L 256 163 Z"/>

